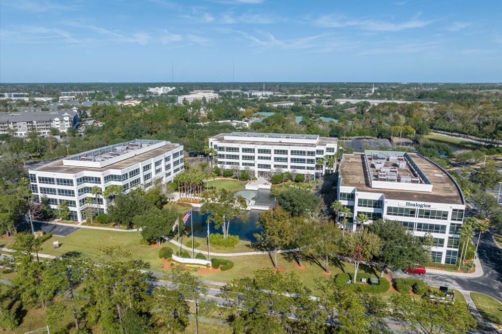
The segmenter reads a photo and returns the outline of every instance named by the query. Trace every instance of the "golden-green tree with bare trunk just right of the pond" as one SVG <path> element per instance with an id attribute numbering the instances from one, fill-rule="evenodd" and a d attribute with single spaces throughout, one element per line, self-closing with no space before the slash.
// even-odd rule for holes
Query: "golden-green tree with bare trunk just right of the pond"
<path id="1" fill-rule="evenodd" d="M 263 228 L 260 233 L 255 233 L 258 243 L 274 251 L 274 267 L 277 269 L 277 250 L 291 244 L 294 238 L 294 227 L 290 214 L 276 206 L 260 213 L 258 225 Z"/>

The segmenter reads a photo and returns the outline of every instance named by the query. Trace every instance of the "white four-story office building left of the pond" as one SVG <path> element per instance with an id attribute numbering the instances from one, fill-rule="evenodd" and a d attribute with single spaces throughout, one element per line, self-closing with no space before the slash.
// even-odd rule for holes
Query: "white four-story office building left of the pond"
<path id="1" fill-rule="evenodd" d="M 32 193 L 47 196 L 51 208 L 68 202 L 71 219 L 85 220 L 89 205 L 106 212 L 109 199 L 92 195 L 92 187 L 104 191 L 110 185 L 124 192 L 156 179 L 169 182 L 184 169 L 183 146 L 163 140 L 134 139 L 65 157 L 29 171 Z M 91 198 L 93 204 L 86 204 Z"/>

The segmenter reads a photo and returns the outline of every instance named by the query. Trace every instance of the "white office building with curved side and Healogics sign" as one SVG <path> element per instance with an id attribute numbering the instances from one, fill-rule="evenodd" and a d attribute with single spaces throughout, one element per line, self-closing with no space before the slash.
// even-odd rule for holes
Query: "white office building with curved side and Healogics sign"
<path id="1" fill-rule="evenodd" d="M 433 262 L 455 264 L 465 200 L 455 180 L 435 162 L 416 153 L 373 151 L 344 154 L 337 198 L 357 216 L 397 220 L 417 236 L 430 233 Z M 355 218 L 354 218 L 355 217 Z"/>

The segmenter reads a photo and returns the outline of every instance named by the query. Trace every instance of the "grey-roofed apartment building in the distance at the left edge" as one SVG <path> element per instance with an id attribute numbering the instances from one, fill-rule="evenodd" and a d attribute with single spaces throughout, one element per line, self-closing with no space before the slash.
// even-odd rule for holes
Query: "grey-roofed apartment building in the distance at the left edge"
<path id="1" fill-rule="evenodd" d="M 59 111 L 16 111 L 0 113 L 0 133 L 14 131 L 15 136 L 24 137 L 29 132 L 38 131 L 46 136 L 51 128 L 66 132 L 78 125 L 76 110 Z"/>

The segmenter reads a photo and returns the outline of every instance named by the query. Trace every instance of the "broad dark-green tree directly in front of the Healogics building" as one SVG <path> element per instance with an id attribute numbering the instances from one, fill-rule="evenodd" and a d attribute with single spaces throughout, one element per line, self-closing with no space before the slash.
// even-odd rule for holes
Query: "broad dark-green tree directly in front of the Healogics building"
<path id="1" fill-rule="evenodd" d="M 416 264 L 425 265 L 430 260 L 430 245 L 420 241 L 399 221 L 379 219 L 368 225 L 368 231 L 382 241 L 376 254 L 383 265 L 380 277 L 388 267 L 409 268 Z"/>

